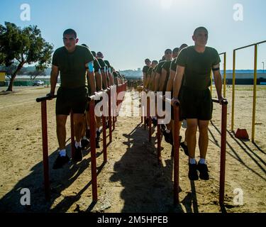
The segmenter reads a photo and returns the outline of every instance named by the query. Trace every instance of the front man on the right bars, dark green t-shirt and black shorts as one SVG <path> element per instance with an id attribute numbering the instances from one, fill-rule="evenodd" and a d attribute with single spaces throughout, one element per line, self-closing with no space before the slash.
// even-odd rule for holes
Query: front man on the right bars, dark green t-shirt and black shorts
<path id="1" fill-rule="evenodd" d="M 184 48 L 177 57 L 177 72 L 174 78 L 173 101 L 180 102 L 181 114 L 187 118 L 187 146 L 189 148 L 189 179 L 209 179 L 206 165 L 206 153 L 209 143 L 208 126 L 211 120 L 213 103 L 211 100 L 211 70 L 218 100 L 223 101 L 221 94 L 220 57 L 214 48 L 206 47 L 208 31 L 204 27 L 196 28 L 192 36 L 195 45 Z M 184 82 L 182 86 L 182 79 Z M 180 87 L 182 92 L 179 96 Z M 195 160 L 196 131 L 199 127 L 198 165 Z M 199 175 L 197 170 L 199 170 Z"/>

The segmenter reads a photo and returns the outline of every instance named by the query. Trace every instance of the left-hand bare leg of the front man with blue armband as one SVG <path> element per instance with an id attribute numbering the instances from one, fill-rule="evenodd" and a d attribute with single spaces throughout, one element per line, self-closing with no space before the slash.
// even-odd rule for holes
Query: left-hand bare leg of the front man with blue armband
<path id="1" fill-rule="evenodd" d="M 67 115 L 56 116 L 56 133 L 57 133 L 57 140 L 59 144 L 59 150 L 65 149 L 65 140 L 67 137 L 67 132 L 65 129 L 66 121 L 67 121 Z"/>

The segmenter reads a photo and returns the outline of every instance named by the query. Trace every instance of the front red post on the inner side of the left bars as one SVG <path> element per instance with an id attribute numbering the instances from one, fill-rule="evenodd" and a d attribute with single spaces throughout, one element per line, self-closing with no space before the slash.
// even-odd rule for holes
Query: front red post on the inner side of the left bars
<path id="1" fill-rule="evenodd" d="M 96 171 L 96 126 L 94 118 L 94 100 L 89 101 L 89 128 L 92 159 L 92 199 L 97 201 L 97 171 Z"/>

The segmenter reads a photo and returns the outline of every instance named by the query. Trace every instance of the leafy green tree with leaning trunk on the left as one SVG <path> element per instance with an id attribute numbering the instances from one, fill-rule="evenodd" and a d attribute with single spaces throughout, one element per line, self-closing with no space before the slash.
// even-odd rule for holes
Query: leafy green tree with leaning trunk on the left
<path id="1" fill-rule="evenodd" d="M 37 62 L 36 70 L 45 70 L 51 63 L 52 48 L 42 38 L 37 26 L 21 29 L 14 23 L 0 24 L 0 64 L 4 63 L 6 67 L 17 65 L 6 91 L 12 91 L 13 81 L 23 65 Z"/>

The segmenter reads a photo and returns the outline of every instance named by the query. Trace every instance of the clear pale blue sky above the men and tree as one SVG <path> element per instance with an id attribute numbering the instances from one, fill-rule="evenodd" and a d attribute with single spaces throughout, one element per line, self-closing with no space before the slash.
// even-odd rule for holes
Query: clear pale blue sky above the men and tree
<path id="1" fill-rule="evenodd" d="M 21 21 L 21 4 L 31 6 L 30 21 Z M 209 46 L 228 52 L 228 69 L 233 49 L 266 40 L 265 0 L 1 0 L 0 9 L 1 24 L 37 25 L 55 49 L 63 31 L 74 28 L 79 44 L 103 52 L 116 70 L 137 69 L 147 57 L 160 60 L 167 48 L 193 45 L 198 26 L 209 30 Z M 262 62 L 266 69 L 266 43 L 258 50 L 258 69 Z M 237 53 L 238 69 L 253 69 L 253 52 Z"/>

